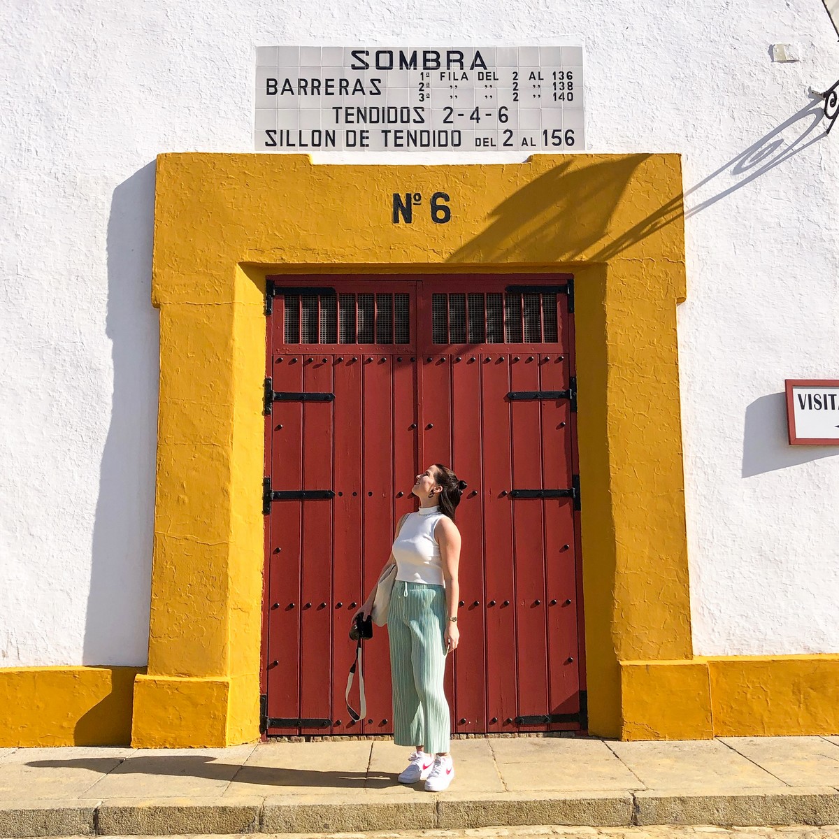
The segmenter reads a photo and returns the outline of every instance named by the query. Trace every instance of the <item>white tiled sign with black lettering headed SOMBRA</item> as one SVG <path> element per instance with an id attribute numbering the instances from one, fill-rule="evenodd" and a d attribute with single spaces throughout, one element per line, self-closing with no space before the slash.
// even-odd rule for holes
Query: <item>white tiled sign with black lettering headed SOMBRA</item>
<path id="1" fill-rule="evenodd" d="M 586 148 L 581 46 L 258 47 L 258 151 Z"/>

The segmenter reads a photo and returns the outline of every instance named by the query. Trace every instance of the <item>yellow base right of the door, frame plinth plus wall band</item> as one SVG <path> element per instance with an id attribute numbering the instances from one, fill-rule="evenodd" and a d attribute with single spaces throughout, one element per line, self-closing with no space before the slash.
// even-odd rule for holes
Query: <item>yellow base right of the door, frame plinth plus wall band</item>
<path id="1" fill-rule="evenodd" d="M 839 733 L 839 655 L 622 661 L 623 740 Z"/>

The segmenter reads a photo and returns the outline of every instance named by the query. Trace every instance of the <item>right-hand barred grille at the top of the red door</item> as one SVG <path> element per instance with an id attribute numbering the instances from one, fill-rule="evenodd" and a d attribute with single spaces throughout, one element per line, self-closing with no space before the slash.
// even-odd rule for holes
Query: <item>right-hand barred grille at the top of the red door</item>
<path id="1" fill-rule="evenodd" d="M 433 294 L 435 344 L 555 344 L 556 294 Z"/>

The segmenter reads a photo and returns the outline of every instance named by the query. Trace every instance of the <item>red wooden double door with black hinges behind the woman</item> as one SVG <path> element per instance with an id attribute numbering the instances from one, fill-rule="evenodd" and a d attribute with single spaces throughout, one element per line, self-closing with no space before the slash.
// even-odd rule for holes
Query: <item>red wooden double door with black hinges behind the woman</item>
<path id="1" fill-rule="evenodd" d="M 392 731 L 384 629 L 365 648 L 367 717 L 347 717 L 349 618 L 435 462 L 469 483 L 453 730 L 585 727 L 569 280 L 274 281 L 268 734 Z"/>

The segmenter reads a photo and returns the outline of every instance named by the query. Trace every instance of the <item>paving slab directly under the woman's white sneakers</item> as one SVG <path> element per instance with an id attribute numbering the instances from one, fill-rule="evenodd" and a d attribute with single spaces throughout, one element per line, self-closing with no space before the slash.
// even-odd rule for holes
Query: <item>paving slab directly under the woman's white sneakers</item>
<path id="1" fill-rule="evenodd" d="M 393 789 L 397 793 L 402 789 L 406 795 L 412 790 L 420 790 L 425 794 L 425 781 L 408 786 L 399 784 L 397 780 L 399 773 L 408 765 L 410 752 L 410 748 L 396 746 L 391 741 L 375 741 L 370 758 L 367 789 Z M 460 793 L 504 791 L 488 740 L 453 740 L 451 756 L 455 761 L 454 784 Z"/>

